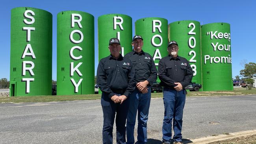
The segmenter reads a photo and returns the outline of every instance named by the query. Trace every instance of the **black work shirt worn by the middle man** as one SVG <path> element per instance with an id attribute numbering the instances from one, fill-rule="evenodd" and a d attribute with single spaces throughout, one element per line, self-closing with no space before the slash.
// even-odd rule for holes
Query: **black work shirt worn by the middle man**
<path id="1" fill-rule="evenodd" d="M 124 57 L 132 61 L 136 83 L 147 80 L 152 85 L 156 81 L 157 69 L 150 54 L 143 52 L 143 50 L 141 50 L 141 53 L 132 50 L 132 52 L 129 52 Z"/>

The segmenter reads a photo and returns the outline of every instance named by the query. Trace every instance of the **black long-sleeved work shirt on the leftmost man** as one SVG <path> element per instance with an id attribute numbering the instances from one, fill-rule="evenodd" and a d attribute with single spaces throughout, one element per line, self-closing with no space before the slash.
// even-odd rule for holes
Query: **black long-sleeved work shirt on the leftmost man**
<path id="1" fill-rule="evenodd" d="M 123 95 L 128 97 L 135 89 L 132 62 L 121 54 L 118 59 L 111 55 L 101 59 L 97 69 L 97 84 L 102 92 L 108 93 L 109 98 L 115 95 L 112 90 L 125 90 Z"/>

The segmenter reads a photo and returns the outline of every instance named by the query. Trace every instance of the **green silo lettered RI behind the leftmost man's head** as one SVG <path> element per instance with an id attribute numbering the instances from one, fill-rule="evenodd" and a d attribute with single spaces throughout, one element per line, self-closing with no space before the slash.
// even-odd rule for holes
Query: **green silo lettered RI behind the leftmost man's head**
<path id="1" fill-rule="evenodd" d="M 99 60 L 110 55 L 109 39 L 116 37 L 121 43 L 121 54 L 132 51 L 132 18 L 122 14 L 108 14 L 98 17 Z"/>

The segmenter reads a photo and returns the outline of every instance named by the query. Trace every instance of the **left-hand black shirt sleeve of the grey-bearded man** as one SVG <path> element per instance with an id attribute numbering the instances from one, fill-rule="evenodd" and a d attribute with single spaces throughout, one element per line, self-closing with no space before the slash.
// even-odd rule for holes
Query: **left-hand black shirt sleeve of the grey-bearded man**
<path id="1" fill-rule="evenodd" d="M 166 85 L 168 85 L 170 87 L 176 87 L 177 86 L 177 85 L 174 84 L 174 83 L 176 83 L 176 81 L 169 78 L 167 76 L 167 74 L 165 73 L 165 69 L 164 69 L 162 59 L 158 63 L 158 77 L 163 83 L 165 83 Z"/>

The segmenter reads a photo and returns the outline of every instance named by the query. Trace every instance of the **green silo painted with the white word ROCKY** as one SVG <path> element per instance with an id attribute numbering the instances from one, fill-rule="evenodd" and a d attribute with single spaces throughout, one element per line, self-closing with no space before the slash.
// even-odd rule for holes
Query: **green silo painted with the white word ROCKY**
<path id="1" fill-rule="evenodd" d="M 94 94 L 94 17 L 57 15 L 57 95 Z"/>

